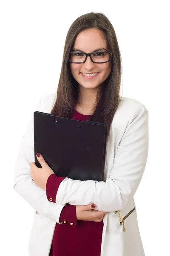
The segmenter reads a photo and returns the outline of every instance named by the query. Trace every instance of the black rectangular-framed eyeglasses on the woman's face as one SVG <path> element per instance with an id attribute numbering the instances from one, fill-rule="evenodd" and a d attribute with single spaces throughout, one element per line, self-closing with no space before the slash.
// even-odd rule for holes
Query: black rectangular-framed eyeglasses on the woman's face
<path id="1" fill-rule="evenodd" d="M 68 60 L 71 63 L 85 63 L 88 56 L 90 56 L 93 63 L 106 63 L 110 61 L 112 52 L 70 52 Z"/>

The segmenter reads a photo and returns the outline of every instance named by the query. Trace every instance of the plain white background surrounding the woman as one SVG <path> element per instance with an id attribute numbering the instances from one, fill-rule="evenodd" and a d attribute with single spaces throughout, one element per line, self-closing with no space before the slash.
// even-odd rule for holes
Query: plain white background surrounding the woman
<path id="1" fill-rule="evenodd" d="M 149 111 L 149 155 L 135 195 L 146 256 L 170 255 L 169 1 L 0 2 L 0 255 L 28 256 L 34 209 L 13 189 L 14 166 L 35 106 L 56 92 L 74 20 L 102 12 L 122 55 L 122 92 Z"/>

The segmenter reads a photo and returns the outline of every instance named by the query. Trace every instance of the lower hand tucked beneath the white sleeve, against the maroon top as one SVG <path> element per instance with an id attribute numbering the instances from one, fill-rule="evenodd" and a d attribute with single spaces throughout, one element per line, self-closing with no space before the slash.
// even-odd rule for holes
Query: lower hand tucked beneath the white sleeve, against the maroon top
<path id="1" fill-rule="evenodd" d="M 107 212 L 100 212 L 98 210 L 94 210 L 95 207 L 92 207 L 92 205 L 94 205 L 96 207 L 95 204 L 77 205 L 76 206 L 77 220 L 79 220 L 79 221 L 95 221 L 95 222 L 102 221 Z"/>

